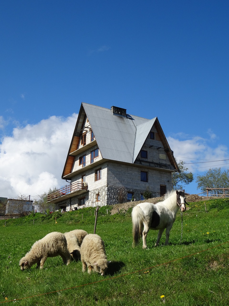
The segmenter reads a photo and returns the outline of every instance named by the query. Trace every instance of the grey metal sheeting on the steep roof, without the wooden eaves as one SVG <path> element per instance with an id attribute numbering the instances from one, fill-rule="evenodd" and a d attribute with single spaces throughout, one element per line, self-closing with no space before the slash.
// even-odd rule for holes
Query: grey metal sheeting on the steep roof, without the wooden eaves
<path id="1" fill-rule="evenodd" d="M 146 125 L 146 129 L 149 129 L 147 132 L 144 129 L 144 124 L 151 120 L 134 115 L 128 115 L 127 118 L 124 118 L 114 115 L 111 109 L 87 103 L 82 103 L 82 106 L 102 157 L 104 159 L 133 163 L 133 156 L 138 155 L 153 125 L 152 122 L 149 124 L 150 127 Z M 142 128 L 141 125 L 143 125 Z M 136 133 L 136 130 L 139 132 Z M 135 137 L 137 146 L 135 145 Z M 134 152 L 136 153 L 134 154 Z"/>

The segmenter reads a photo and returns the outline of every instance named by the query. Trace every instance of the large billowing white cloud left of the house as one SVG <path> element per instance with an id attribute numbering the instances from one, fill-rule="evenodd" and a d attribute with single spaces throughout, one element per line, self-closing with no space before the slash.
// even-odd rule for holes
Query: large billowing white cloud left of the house
<path id="1" fill-rule="evenodd" d="M 61 187 L 64 163 L 77 114 L 52 116 L 36 125 L 15 128 L 0 144 L 0 196 L 36 196 Z"/>

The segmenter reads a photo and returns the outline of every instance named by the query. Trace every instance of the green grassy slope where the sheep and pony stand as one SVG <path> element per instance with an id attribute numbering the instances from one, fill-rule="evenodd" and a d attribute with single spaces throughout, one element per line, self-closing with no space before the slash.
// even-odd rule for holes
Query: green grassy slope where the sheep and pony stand
<path id="1" fill-rule="evenodd" d="M 81 262 L 64 266 L 60 256 L 44 269 L 20 271 L 19 260 L 32 244 L 52 231 L 94 231 L 94 209 L 49 220 L 21 218 L 0 222 L 0 304 L 18 305 L 229 305 L 229 200 L 191 203 L 177 214 L 169 246 L 153 247 L 157 231 L 132 248 L 131 209 L 98 214 L 96 233 L 105 242 L 111 264 L 102 277 L 82 273 Z M 107 207 L 106 207 L 107 208 Z M 82 219 L 83 214 L 83 219 Z M 34 223 L 34 224 L 33 224 Z"/>

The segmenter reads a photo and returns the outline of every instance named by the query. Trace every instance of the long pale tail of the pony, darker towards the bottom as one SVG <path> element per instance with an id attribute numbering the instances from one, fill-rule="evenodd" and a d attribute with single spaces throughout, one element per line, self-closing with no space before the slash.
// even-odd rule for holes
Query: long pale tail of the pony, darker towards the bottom
<path id="1" fill-rule="evenodd" d="M 136 205 L 131 213 L 132 216 L 132 224 L 133 224 L 133 244 L 132 246 L 135 247 L 140 240 L 141 237 L 141 228 L 143 227 L 144 221 L 144 212 L 140 206 Z"/>

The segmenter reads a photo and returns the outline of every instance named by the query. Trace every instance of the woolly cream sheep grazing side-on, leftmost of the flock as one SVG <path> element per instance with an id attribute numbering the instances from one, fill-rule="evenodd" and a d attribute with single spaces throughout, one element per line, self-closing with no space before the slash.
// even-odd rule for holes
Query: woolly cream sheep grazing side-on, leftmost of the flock
<path id="1" fill-rule="evenodd" d="M 71 262 L 71 255 L 67 250 L 67 240 L 62 233 L 52 232 L 44 238 L 36 241 L 29 252 L 19 262 L 21 270 L 30 268 L 37 263 L 37 268 L 43 269 L 45 260 L 48 257 L 60 255 L 64 264 Z"/>

